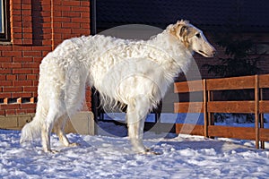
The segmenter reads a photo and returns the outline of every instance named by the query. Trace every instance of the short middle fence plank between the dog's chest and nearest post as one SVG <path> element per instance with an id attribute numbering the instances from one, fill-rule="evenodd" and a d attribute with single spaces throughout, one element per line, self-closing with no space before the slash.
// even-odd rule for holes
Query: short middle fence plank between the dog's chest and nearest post
<path id="1" fill-rule="evenodd" d="M 175 103 L 174 113 L 204 113 L 203 102 Z"/>

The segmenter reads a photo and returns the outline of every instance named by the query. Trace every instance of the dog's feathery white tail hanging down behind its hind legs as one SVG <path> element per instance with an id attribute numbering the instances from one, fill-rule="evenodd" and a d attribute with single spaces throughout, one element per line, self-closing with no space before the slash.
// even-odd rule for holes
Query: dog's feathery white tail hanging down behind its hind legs
<path id="1" fill-rule="evenodd" d="M 24 141 L 32 141 L 40 137 L 43 123 L 44 118 L 42 117 L 41 110 L 39 107 L 37 107 L 37 112 L 33 120 L 30 123 L 25 124 L 22 128 L 20 142 L 22 143 Z"/>

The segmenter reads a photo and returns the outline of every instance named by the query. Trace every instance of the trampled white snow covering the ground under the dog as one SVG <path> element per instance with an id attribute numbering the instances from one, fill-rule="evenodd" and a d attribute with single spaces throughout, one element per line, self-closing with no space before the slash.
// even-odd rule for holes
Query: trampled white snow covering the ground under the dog
<path id="1" fill-rule="evenodd" d="M 0 130 L 0 178 L 269 177 L 269 150 L 255 149 L 254 141 L 149 132 L 145 145 L 161 155 L 141 155 L 131 150 L 124 126 L 100 125 L 104 131 L 118 132 L 70 133 L 70 141 L 81 144 L 72 148 L 61 146 L 53 134 L 56 154 L 44 153 L 39 141 L 21 146 L 21 132 Z"/>

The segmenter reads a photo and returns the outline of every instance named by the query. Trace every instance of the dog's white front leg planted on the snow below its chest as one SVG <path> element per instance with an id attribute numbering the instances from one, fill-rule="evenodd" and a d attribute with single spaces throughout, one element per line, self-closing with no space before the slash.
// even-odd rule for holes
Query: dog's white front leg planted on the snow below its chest
<path id="1" fill-rule="evenodd" d="M 127 107 L 126 117 L 129 139 L 134 151 L 139 153 L 146 153 L 149 150 L 143 145 L 143 126 L 149 108 L 149 100 L 143 97 L 135 98 Z"/>

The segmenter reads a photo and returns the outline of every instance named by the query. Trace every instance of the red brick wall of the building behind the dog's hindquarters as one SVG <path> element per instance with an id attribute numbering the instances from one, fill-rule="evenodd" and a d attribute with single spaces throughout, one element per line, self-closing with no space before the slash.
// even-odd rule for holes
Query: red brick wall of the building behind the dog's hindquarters
<path id="1" fill-rule="evenodd" d="M 0 115 L 34 113 L 39 64 L 64 39 L 90 34 L 90 0 L 11 0 L 10 23 L 11 42 L 0 41 Z"/>

